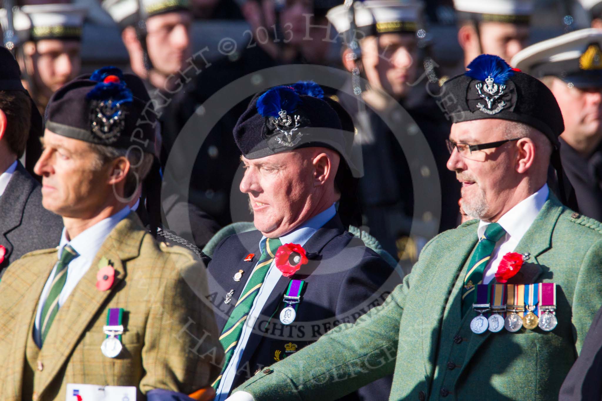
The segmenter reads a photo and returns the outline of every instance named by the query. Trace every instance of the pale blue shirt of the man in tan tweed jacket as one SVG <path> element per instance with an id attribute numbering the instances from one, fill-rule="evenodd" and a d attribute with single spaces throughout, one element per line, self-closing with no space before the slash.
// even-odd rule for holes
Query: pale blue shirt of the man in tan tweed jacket
<path id="1" fill-rule="evenodd" d="M 73 289 L 75 289 L 75 286 L 79 283 L 79 280 L 84 277 L 85 272 L 87 272 L 90 268 L 90 265 L 92 265 L 92 261 L 98 253 L 98 249 L 101 248 L 105 238 L 107 238 L 111 230 L 113 230 L 117 223 L 122 221 L 122 219 L 125 218 L 128 213 L 129 207 L 126 206 L 113 216 L 99 221 L 92 227 L 86 228 L 70 241 L 67 240 L 67 231 L 65 228 L 63 228 L 61 242 L 58 244 L 58 259 L 61 258 L 61 254 L 63 254 L 63 248 L 67 244 L 71 245 L 72 248 L 75 249 L 75 251 L 78 253 L 78 256 L 69 263 L 69 266 L 67 266 L 67 280 L 65 281 L 63 290 L 61 290 L 61 293 L 58 296 L 59 308 L 63 306 L 65 301 L 67 301 L 67 298 Z M 36 326 L 34 327 L 34 340 L 39 347 L 42 344 L 40 339 L 40 319 L 42 316 L 42 307 L 46 301 L 46 298 L 48 298 L 48 293 L 50 292 L 50 287 L 52 280 L 54 280 L 56 270 L 57 264 L 54 265 L 54 269 L 52 269 L 50 277 L 48 277 L 48 280 L 46 280 L 46 285 L 42 290 L 42 295 L 40 296 L 40 301 L 38 302 Z"/>

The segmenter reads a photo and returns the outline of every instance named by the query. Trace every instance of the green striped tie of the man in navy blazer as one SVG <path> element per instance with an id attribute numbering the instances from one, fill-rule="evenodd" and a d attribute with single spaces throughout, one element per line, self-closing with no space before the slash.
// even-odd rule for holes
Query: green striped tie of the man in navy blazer
<path id="1" fill-rule="evenodd" d="M 220 385 L 224 371 L 232 359 L 232 355 L 234 355 L 236 344 L 243 331 L 244 322 L 247 320 L 251 307 L 253 306 L 253 301 L 255 301 L 255 297 L 259 293 L 261 284 L 263 284 L 265 280 L 265 275 L 267 275 L 267 271 L 270 269 L 270 265 L 272 265 L 272 260 L 274 260 L 276 251 L 281 245 L 282 242 L 280 242 L 280 239 L 278 238 L 267 238 L 265 240 L 265 249 L 263 249 L 263 252 L 261 253 L 259 262 L 257 262 L 255 269 L 251 272 L 251 277 L 249 278 L 249 281 L 247 281 L 246 286 L 244 286 L 243 293 L 240 298 L 238 298 L 238 302 L 234 305 L 234 310 L 224 326 L 222 335 L 220 335 L 220 343 L 222 343 L 222 346 L 224 347 L 225 354 L 224 364 L 222 366 L 222 373 L 220 373 L 216 381 L 211 385 L 211 387 L 216 390 Z"/>

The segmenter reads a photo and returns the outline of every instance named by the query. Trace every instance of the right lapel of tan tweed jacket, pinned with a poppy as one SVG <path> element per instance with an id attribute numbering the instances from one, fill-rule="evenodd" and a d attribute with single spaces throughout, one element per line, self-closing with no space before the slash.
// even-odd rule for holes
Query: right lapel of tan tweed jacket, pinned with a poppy
<path id="1" fill-rule="evenodd" d="M 124 262 L 138 256 L 145 233 L 146 231 L 140 225 L 140 219 L 135 212 L 131 212 L 113 228 L 102 243 L 92 265 L 84 277 L 79 280 L 64 305 L 58 310 L 46 336 L 40 351 L 40 358 L 48 361 L 49 368 L 37 373 L 42 389 L 51 384 L 52 379 L 69 358 L 90 322 L 102 319 L 101 316 L 97 316 L 98 312 L 104 308 L 107 298 L 119 291 L 125 284 L 123 280 L 127 277 L 127 269 Z M 115 269 L 113 286 L 107 291 L 96 289 L 96 274 L 102 257 L 113 262 Z"/>

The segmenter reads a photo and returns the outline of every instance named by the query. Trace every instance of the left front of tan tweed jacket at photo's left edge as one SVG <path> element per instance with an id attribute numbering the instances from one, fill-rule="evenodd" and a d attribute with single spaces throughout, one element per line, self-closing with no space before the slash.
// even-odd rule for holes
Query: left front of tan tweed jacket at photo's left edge
<path id="1" fill-rule="evenodd" d="M 37 304 L 44 284 L 58 260 L 55 249 L 44 249 L 36 253 L 37 257 L 30 263 L 21 266 L 18 272 L 13 273 L 9 269 L 7 274 L 2 277 L 2 288 L 5 294 L 7 291 L 19 292 L 10 296 L 10 299 L 16 301 L 14 304 L 7 305 L 3 302 L 0 307 L 0 330 L 7 335 L 11 326 L 17 328 L 10 334 L 10 346 L 4 350 L 7 352 L 5 366 L 10 369 L 8 377 L 2 378 L 5 379 L 4 390 L 0 388 L 0 398 L 2 399 L 10 398 L 13 394 L 19 394 L 19 396 L 21 394 L 29 328 L 36 319 Z M 13 320 L 20 320 L 22 323 L 14 325 Z"/>

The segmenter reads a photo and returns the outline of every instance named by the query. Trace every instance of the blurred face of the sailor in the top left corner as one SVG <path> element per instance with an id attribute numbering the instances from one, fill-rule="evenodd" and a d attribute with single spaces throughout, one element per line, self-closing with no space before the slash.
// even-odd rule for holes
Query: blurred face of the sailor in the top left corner
<path id="1" fill-rule="evenodd" d="M 39 94 L 46 98 L 79 74 L 81 43 L 77 40 L 28 42 L 24 52 L 26 69 Z"/>

